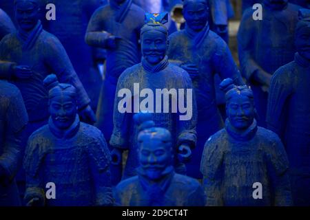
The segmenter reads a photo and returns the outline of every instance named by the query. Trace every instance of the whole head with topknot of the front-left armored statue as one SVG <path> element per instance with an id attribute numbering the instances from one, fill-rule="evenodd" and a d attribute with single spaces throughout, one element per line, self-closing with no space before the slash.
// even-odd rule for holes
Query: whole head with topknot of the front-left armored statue
<path id="1" fill-rule="evenodd" d="M 49 110 L 54 125 L 59 129 L 68 129 L 73 124 L 78 109 L 75 87 L 59 83 L 54 74 L 47 76 L 43 83 L 49 90 Z"/>

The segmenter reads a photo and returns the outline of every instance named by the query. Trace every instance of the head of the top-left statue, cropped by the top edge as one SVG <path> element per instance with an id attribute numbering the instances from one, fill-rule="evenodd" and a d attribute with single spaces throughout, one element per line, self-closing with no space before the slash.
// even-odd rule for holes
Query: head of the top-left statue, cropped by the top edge
<path id="1" fill-rule="evenodd" d="M 29 32 L 40 18 L 39 0 L 14 0 L 14 12 L 19 28 Z"/>

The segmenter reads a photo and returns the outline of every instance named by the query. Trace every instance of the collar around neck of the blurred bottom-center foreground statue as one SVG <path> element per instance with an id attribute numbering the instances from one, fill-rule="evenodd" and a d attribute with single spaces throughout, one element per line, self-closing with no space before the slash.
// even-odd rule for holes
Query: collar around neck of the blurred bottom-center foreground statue
<path id="1" fill-rule="evenodd" d="M 141 166 L 136 168 L 136 171 L 138 173 L 138 179 L 142 188 L 145 190 L 145 192 L 147 192 L 147 195 L 150 195 L 152 199 L 154 199 L 153 197 L 165 195 L 165 192 L 169 188 L 175 174 L 174 167 L 168 166 L 165 168 L 165 170 L 163 170 L 163 178 L 161 180 L 151 181 L 147 178 L 145 171 Z"/>

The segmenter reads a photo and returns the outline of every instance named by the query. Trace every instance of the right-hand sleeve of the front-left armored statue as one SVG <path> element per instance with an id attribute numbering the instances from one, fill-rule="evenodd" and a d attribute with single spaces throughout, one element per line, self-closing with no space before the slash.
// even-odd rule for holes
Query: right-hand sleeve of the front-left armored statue
<path id="1" fill-rule="evenodd" d="M 112 199 L 112 183 L 110 173 L 110 152 L 101 133 L 99 139 L 87 148 L 90 159 L 90 170 L 94 179 L 95 205 L 110 206 Z"/>

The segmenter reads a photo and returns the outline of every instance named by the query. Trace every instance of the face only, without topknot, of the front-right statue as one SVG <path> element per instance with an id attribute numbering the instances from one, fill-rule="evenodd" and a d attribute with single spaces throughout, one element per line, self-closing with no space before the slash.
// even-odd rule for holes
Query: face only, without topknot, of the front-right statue
<path id="1" fill-rule="evenodd" d="M 235 95 L 226 106 L 229 122 L 236 129 L 247 129 L 254 121 L 254 102 L 244 95 Z"/>

